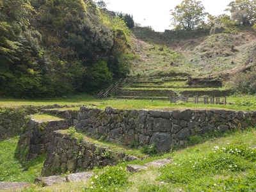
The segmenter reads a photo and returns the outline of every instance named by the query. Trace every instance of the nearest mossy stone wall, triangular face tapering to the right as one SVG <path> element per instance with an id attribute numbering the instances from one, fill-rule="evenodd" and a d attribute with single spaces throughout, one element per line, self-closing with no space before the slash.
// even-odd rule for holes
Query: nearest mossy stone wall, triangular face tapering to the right
<path id="1" fill-rule="evenodd" d="M 54 131 L 41 174 L 49 176 L 92 170 L 96 166 L 114 165 L 124 158 L 122 152 L 112 152 L 88 141 L 79 141 L 70 134 Z"/>

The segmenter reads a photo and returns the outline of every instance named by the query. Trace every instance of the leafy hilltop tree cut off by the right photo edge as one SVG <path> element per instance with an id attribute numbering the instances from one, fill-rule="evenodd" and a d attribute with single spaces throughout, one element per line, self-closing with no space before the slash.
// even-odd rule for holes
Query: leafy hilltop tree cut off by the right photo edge
<path id="1" fill-rule="evenodd" d="M 226 11 L 230 11 L 232 20 L 239 22 L 240 26 L 250 25 L 256 19 L 255 0 L 236 0 L 228 4 Z"/>

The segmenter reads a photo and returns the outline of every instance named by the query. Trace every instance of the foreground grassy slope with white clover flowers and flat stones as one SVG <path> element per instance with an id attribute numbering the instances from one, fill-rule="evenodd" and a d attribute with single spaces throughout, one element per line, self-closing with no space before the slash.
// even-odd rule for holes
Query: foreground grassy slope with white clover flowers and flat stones
<path id="1" fill-rule="evenodd" d="M 92 180 L 40 187 L 32 184 L 19 191 L 255 191 L 256 131 L 247 129 L 210 138 L 193 147 L 172 150 L 162 156 L 133 161 L 144 164 L 170 158 L 162 168 L 148 167 L 125 173 L 127 162 L 96 169 Z M 100 179 L 100 180 L 98 180 Z M 103 186 L 103 187 L 102 187 Z M 101 188 L 102 187 L 102 188 Z"/>

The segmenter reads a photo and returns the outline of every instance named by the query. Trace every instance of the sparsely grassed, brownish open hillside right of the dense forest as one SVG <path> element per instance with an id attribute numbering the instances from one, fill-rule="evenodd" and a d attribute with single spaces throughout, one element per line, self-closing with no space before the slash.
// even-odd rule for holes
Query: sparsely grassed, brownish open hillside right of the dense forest
<path id="1" fill-rule="evenodd" d="M 255 65 L 256 33 L 250 28 L 196 38 L 175 39 L 165 33 L 134 30 L 132 48 L 137 58 L 131 66 L 132 76 L 228 77 Z"/>

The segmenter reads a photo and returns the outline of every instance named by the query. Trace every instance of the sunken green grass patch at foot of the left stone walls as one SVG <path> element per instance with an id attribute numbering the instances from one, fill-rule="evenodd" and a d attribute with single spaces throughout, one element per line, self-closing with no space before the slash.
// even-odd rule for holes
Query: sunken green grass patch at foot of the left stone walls
<path id="1" fill-rule="evenodd" d="M 22 166 L 14 157 L 18 140 L 18 136 L 0 140 L 0 181 L 33 183 L 40 176 L 45 154 Z"/>

